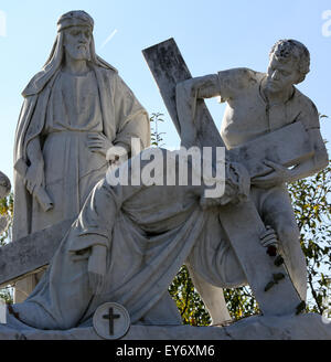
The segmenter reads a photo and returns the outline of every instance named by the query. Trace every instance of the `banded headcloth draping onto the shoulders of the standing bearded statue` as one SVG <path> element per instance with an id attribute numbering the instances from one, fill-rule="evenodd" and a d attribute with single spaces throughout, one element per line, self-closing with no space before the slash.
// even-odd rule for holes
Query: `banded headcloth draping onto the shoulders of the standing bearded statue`
<path id="1" fill-rule="evenodd" d="M 63 30 L 71 28 L 71 26 L 77 26 L 77 25 L 87 25 L 90 26 L 93 30 L 94 28 L 94 20 L 92 17 L 82 10 L 75 10 L 70 11 L 65 14 L 63 14 L 58 21 L 57 21 L 57 36 L 55 39 L 55 42 L 53 44 L 51 54 L 43 66 L 42 71 L 34 75 L 34 77 L 29 82 L 25 89 L 22 92 L 23 97 L 32 96 L 35 94 L 39 94 L 43 91 L 45 85 L 53 78 L 54 75 L 57 74 L 57 72 L 61 68 L 64 50 L 63 50 L 63 39 L 64 39 L 64 32 Z M 107 70 L 113 70 L 117 73 L 117 70 L 108 64 L 106 61 L 100 58 L 96 52 L 95 52 L 95 44 L 94 44 L 94 38 L 92 36 L 90 40 L 90 63 L 95 66 L 104 67 Z"/>

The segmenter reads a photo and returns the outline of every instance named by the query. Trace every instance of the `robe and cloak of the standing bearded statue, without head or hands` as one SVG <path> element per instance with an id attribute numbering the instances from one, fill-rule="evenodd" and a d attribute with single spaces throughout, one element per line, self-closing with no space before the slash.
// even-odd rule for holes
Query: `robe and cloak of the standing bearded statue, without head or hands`
<path id="1" fill-rule="evenodd" d="M 22 175 L 14 172 L 13 239 L 77 216 L 86 196 L 107 170 L 103 155 L 92 152 L 87 136 L 104 134 L 114 145 L 130 150 L 131 137 L 149 145 L 146 110 L 113 70 L 93 66 L 83 76 L 61 70 L 40 94 L 24 100 L 15 135 L 14 163 L 29 164 L 26 146 L 42 141 L 45 190 L 54 209 L 44 212 L 28 192 Z"/>

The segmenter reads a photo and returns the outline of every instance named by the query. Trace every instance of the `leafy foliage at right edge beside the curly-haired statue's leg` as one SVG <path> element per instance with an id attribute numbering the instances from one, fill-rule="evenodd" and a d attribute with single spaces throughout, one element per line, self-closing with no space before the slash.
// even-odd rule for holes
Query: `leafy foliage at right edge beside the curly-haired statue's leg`
<path id="1" fill-rule="evenodd" d="M 331 166 L 289 188 L 306 255 L 311 292 L 308 310 L 323 313 L 331 281 Z"/>

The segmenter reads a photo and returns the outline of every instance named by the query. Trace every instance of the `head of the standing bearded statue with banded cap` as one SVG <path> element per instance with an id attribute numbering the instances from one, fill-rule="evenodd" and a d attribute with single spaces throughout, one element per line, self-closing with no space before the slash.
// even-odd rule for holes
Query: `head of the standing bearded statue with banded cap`
<path id="1" fill-rule="evenodd" d="M 85 11 L 70 11 L 57 22 L 57 31 L 63 32 L 65 54 L 75 61 L 90 60 L 90 44 L 94 21 Z"/>

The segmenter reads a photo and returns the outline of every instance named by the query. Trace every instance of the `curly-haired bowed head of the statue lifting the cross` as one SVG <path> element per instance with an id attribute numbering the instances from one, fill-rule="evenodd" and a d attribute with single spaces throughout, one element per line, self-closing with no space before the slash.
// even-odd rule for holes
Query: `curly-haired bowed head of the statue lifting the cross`
<path id="1" fill-rule="evenodd" d="M 308 49 L 296 40 L 280 40 L 271 49 L 268 65 L 268 87 L 279 92 L 303 82 L 309 73 Z"/>

